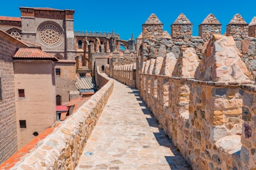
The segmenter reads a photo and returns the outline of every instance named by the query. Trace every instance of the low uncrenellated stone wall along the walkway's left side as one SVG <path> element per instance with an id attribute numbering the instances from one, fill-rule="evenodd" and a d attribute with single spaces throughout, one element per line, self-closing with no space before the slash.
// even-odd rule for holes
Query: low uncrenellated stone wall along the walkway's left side
<path id="1" fill-rule="evenodd" d="M 98 121 L 114 81 L 97 72 L 100 90 L 63 121 L 11 169 L 75 169 L 87 139 Z"/>

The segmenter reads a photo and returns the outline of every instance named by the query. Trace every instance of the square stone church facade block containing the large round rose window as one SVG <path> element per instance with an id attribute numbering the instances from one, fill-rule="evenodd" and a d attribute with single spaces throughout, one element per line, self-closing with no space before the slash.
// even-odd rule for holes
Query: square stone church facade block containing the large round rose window
<path id="1" fill-rule="evenodd" d="M 22 40 L 59 59 L 75 60 L 74 10 L 20 7 Z"/>

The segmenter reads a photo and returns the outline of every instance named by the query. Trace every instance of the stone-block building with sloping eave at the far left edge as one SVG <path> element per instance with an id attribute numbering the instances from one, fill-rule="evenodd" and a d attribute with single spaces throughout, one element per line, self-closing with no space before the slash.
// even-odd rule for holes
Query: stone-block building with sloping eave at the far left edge
<path id="1" fill-rule="evenodd" d="M 17 48 L 28 46 L 0 30 L 0 164 L 18 151 L 12 59 Z"/>

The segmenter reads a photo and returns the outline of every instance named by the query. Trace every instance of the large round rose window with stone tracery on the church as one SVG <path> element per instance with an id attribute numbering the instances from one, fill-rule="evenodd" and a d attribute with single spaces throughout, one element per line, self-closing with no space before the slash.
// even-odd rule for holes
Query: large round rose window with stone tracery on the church
<path id="1" fill-rule="evenodd" d="M 60 41 L 61 33 L 57 27 L 53 25 L 45 25 L 40 31 L 40 37 L 44 43 L 53 45 Z"/>

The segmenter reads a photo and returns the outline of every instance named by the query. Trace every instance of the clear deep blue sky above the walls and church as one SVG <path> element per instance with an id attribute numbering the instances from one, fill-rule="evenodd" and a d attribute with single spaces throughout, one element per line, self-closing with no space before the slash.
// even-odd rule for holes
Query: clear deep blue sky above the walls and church
<path id="1" fill-rule="evenodd" d="M 215 0 L 215 1 L 57 1 L 57 0 L 13 0 L 2 1 L 0 15 L 20 16 L 19 6 L 52 7 L 75 10 L 74 30 L 106 31 L 112 29 L 121 35 L 122 39 L 131 38 L 132 33 L 137 38 L 144 23 L 151 13 L 155 13 L 164 24 L 164 30 L 170 33 L 170 25 L 180 13 L 187 16 L 193 23 L 193 36 L 198 36 L 198 25 L 210 13 L 222 23 L 222 33 L 226 25 L 236 13 L 240 13 L 247 23 L 256 16 L 256 0 Z"/>

